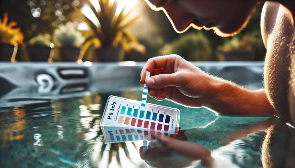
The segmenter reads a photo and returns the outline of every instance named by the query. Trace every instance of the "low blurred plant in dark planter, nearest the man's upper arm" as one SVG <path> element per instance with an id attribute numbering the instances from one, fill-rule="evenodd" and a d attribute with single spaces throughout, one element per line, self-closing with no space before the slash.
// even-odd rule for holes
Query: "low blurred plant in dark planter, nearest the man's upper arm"
<path id="1" fill-rule="evenodd" d="M 221 61 L 250 61 L 254 60 L 252 47 L 249 39 L 239 39 L 238 36 L 226 39 L 224 44 L 217 46 L 217 56 Z"/>

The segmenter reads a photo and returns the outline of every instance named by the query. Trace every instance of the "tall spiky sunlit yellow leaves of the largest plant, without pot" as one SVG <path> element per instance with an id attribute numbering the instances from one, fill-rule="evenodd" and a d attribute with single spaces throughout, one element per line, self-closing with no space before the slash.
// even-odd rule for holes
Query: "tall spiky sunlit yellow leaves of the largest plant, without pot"
<path id="1" fill-rule="evenodd" d="M 130 13 L 132 10 L 125 13 L 126 6 L 116 14 L 118 7 L 118 0 L 114 0 L 113 3 L 109 0 L 98 0 L 100 11 L 96 11 L 94 6 L 89 0 L 86 0 L 95 14 L 96 18 L 99 20 L 100 25 L 96 26 L 90 19 L 88 19 L 82 12 L 74 5 L 72 5 L 78 14 L 80 14 L 86 24 L 92 29 L 93 34 L 86 38 L 83 46 L 84 48 L 89 48 L 89 46 L 96 44 L 96 46 L 111 46 L 117 47 L 122 46 L 123 50 L 129 52 L 128 44 L 130 42 L 138 43 L 135 37 L 128 31 L 128 29 L 134 27 L 137 24 L 138 17 L 130 19 Z M 99 43 L 97 42 L 99 41 Z M 85 53 L 85 49 L 83 51 Z"/>

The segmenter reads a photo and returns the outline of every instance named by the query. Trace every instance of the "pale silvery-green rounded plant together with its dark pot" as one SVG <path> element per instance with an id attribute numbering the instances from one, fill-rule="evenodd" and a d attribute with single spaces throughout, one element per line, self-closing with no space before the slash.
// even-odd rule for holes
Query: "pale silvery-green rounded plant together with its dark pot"
<path id="1" fill-rule="evenodd" d="M 59 25 L 53 34 L 53 43 L 59 46 L 60 58 L 62 61 L 77 61 L 80 56 L 80 46 L 84 42 L 84 37 L 77 30 L 77 22 L 68 22 Z"/>

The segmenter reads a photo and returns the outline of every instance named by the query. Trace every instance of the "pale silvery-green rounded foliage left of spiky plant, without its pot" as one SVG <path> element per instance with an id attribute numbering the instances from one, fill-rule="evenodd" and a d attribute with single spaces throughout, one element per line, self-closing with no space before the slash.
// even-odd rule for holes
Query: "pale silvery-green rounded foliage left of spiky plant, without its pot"
<path id="1" fill-rule="evenodd" d="M 81 46 L 84 42 L 84 37 L 77 30 L 77 22 L 68 22 L 65 25 L 59 25 L 53 34 L 53 43 L 57 46 Z"/>

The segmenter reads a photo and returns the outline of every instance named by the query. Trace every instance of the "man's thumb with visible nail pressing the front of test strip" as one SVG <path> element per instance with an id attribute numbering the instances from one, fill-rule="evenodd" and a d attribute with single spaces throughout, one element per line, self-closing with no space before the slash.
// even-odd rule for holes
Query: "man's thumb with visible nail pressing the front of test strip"
<path id="1" fill-rule="evenodd" d="M 167 86 L 183 87 L 185 85 L 183 75 L 177 72 L 173 74 L 159 74 L 151 76 L 145 81 L 145 83 L 149 88 L 153 89 L 160 89 Z"/>

